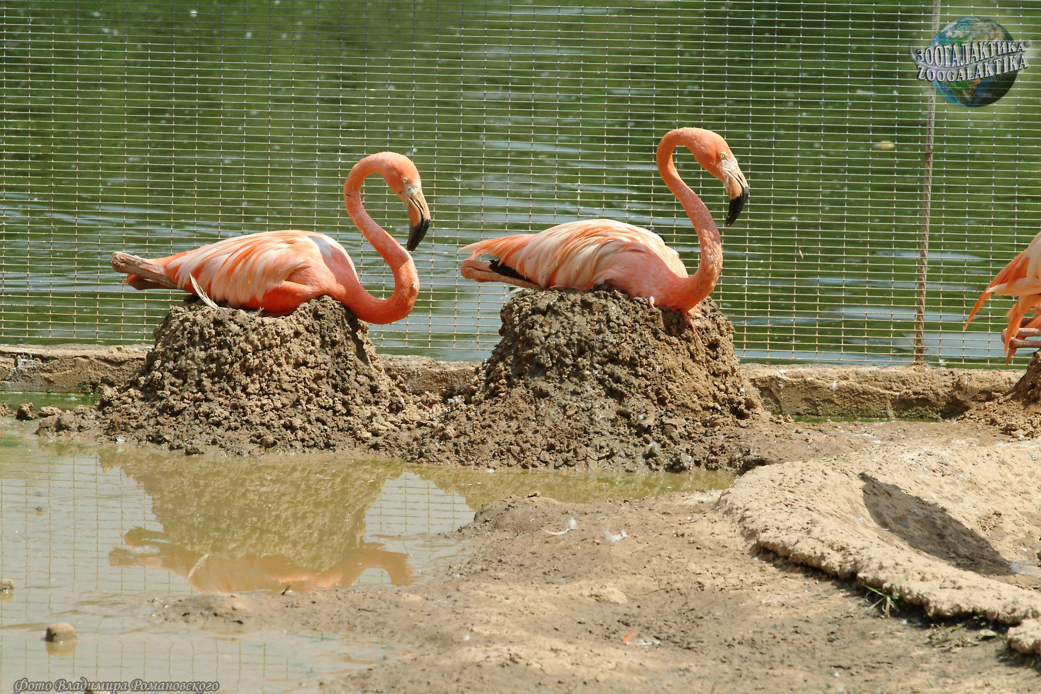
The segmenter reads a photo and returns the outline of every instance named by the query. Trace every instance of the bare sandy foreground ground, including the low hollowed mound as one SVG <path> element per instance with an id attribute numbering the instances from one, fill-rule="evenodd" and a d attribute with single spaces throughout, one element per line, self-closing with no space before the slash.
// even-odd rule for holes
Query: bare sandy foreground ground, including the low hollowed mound
<path id="1" fill-rule="evenodd" d="M 154 619 L 393 646 L 371 669 L 298 691 L 1041 691 L 1037 660 L 1007 635 L 1041 605 L 1041 577 L 1009 568 L 1037 563 L 1041 548 L 1038 446 L 974 422 L 790 427 L 811 444 L 867 443 L 761 466 L 723 492 L 594 505 L 512 496 L 457 531 L 466 558 L 425 583 L 155 598 Z M 905 528 L 915 510 L 933 518 Z M 545 532 L 573 517 L 577 531 Z M 628 537 L 598 543 L 604 528 Z M 889 564 L 869 565 L 882 549 Z M 887 605 L 858 581 L 905 599 Z M 959 595 L 930 602 L 930 590 Z"/>

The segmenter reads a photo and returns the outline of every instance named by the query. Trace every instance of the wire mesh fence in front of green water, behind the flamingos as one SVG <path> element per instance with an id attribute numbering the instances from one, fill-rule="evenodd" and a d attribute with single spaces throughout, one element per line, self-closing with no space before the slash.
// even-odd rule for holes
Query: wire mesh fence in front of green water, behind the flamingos
<path id="1" fill-rule="evenodd" d="M 337 237 L 374 292 L 392 277 L 342 209 L 362 156 L 416 163 L 434 227 L 387 352 L 476 359 L 504 287 L 465 243 L 606 216 L 697 246 L 658 139 L 716 130 L 750 180 L 713 297 L 745 358 L 909 360 L 929 82 L 908 57 L 931 7 L 895 2 L 8 3 L 3 14 L 0 341 L 142 342 L 177 298 L 119 285 L 112 251 L 164 256 L 274 229 Z M 1041 2 L 944 2 L 1041 37 Z M 1033 60 L 1035 49 L 1027 53 Z M 996 104 L 939 100 L 925 358 L 1001 363 L 987 280 L 1041 222 L 1037 69 Z M 678 157 L 716 220 L 721 186 Z M 382 186 L 366 208 L 399 238 Z"/>

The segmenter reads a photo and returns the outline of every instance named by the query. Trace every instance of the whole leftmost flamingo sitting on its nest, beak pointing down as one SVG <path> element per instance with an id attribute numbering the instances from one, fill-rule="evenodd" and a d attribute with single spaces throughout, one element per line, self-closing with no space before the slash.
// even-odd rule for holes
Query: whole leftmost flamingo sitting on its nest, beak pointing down
<path id="1" fill-rule="evenodd" d="M 379 174 L 408 209 L 407 251 L 361 206 L 361 183 Z M 408 157 L 393 152 L 367 156 L 354 165 L 344 184 L 347 212 L 362 235 L 390 265 L 395 288 L 377 299 L 361 286 L 351 257 L 335 239 L 310 231 L 268 231 L 226 238 L 166 258 L 146 260 L 112 254 L 112 268 L 126 273 L 134 289 L 183 289 L 211 306 L 260 309 L 287 315 L 323 294 L 346 305 L 360 319 L 387 324 L 412 311 L 420 278 L 408 251 L 414 251 L 430 227 L 430 209 L 420 187 L 420 173 Z"/>

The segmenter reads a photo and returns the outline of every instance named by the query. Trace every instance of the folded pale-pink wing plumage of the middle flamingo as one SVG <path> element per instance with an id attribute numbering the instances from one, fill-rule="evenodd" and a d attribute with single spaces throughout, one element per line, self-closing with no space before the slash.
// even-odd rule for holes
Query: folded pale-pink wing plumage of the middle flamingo
<path id="1" fill-rule="evenodd" d="M 569 222 L 537 234 L 489 238 L 462 250 L 469 252 L 471 259 L 494 256 L 500 266 L 542 288 L 587 290 L 605 280 L 638 281 L 646 261 L 653 259 L 679 277 L 687 276 L 680 256 L 660 236 L 613 220 Z"/>

